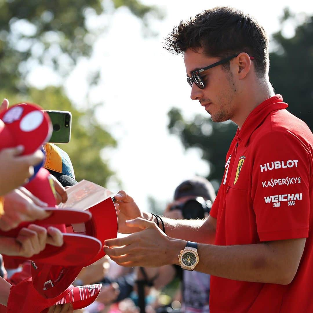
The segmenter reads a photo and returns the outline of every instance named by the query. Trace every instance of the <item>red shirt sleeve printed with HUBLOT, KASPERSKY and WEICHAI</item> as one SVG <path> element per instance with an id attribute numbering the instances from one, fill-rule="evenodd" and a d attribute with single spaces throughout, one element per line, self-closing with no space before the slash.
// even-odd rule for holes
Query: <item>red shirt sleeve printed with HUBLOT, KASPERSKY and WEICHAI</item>
<path id="1" fill-rule="evenodd" d="M 294 134 L 258 140 L 251 197 L 260 241 L 308 237 L 311 173 L 310 151 Z"/>

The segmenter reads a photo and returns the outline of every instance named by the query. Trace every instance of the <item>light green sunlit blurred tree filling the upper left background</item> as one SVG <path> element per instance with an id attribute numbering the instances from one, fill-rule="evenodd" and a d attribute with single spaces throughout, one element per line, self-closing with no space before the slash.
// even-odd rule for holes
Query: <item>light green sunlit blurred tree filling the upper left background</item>
<path id="1" fill-rule="evenodd" d="M 105 147 L 116 141 L 97 122 L 96 105 L 80 112 L 64 94 L 63 88 L 38 90 L 27 83 L 27 75 L 38 65 L 49 67 L 64 80 L 82 57 L 89 58 L 97 36 L 110 24 L 121 6 L 138 17 L 143 29 L 148 19 L 162 18 L 157 8 L 137 0 L 3 0 L 0 1 L 0 96 L 11 104 L 35 102 L 49 110 L 72 112 L 72 136 L 61 145 L 74 165 L 76 179 L 105 185 L 114 173 L 101 158 Z M 97 20 L 95 27 L 90 21 Z M 43 77 L 44 79 L 44 77 Z M 88 84 L 97 85 L 99 73 L 90 73 Z"/>

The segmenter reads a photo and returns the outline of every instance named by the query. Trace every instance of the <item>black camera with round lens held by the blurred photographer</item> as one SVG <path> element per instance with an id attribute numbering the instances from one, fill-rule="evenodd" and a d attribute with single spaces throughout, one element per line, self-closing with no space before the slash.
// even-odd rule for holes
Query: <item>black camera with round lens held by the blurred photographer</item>
<path id="1" fill-rule="evenodd" d="M 195 199 L 187 200 L 184 203 L 173 205 L 170 208 L 172 210 L 181 210 L 182 216 L 187 220 L 203 219 L 210 212 L 212 202 L 210 200 L 204 200 L 203 197 L 197 197 Z"/>

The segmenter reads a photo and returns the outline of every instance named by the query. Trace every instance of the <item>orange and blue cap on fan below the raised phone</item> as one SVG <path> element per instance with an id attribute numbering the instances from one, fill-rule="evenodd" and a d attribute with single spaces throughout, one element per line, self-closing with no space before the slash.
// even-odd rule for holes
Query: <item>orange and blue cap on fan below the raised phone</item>
<path id="1" fill-rule="evenodd" d="M 73 165 L 68 154 L 52 143 L 46 143 L 44 150 L 46 151 L 46 159 L 43 167 L 49 170 L 63 187 L 77 184 Z"/>

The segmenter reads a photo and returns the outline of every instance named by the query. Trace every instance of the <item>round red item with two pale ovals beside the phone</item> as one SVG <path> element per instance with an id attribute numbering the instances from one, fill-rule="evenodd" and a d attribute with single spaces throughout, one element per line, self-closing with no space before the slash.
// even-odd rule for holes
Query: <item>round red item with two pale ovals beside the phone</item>
<path id="1" fill-rule="evenodd" d="M 22 155 L 32 154 L 49 141 L 52 123 L 48 113 L 33 103 L 20 103 L 0 113 L 0 150 L 24 146 Z"/>

